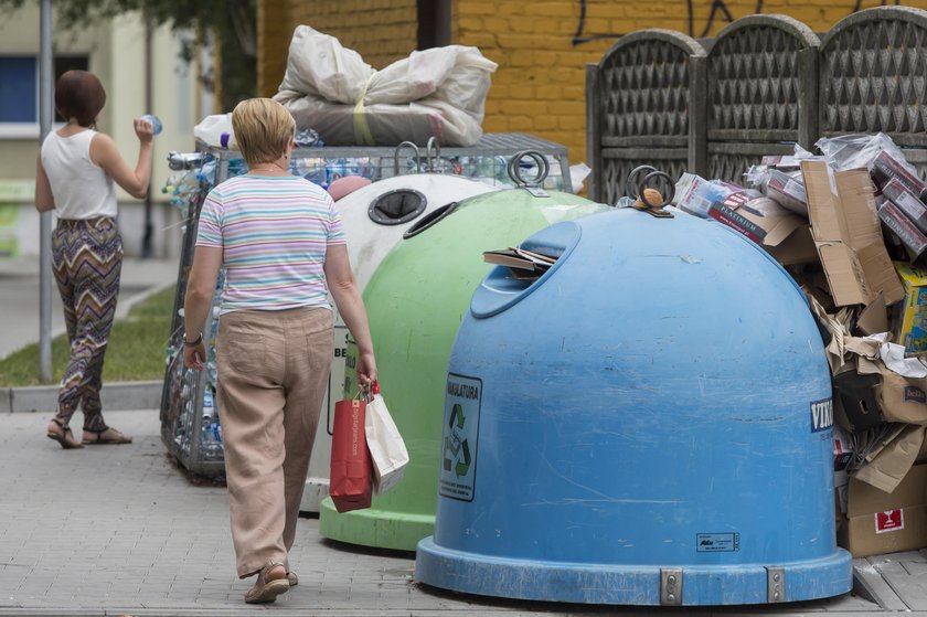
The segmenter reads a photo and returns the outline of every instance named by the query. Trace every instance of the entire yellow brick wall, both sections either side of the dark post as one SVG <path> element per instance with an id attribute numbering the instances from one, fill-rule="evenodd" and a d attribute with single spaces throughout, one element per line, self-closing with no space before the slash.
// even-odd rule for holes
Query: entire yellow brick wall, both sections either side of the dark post
<path id="1" fill-rule="evenodd" d="M 885 0 L 891 2 L 891 0 Z M 268 7 L 274 0 L 262 0 Z M 586 159 L 586 64 L 598 62 L 622 34 L 644 28 L 713 36 L 729 19 L 784 13 L 824 32 L 883 0 L 454 0 L 452 42 L 473 45 L 499 64 L 486 106 L 487 132 L 525 131 L 564 143 L 572 163 Z M 927 0 L 902 0 L 927 9 Z M 306 23 L 338 36 L 382 68 L 407 56 L 416 43 L 414 0 L 281 1 L 279 40 L 262 47 L 259 89 L 271 95 L 286 66 L 292 29 Z M 859 7 L 857 7 L 859 4 Z M 265 10 L 267 12 L 267 10 Z M 728 19 L 729 15 L 729 19 Z M 262 29 L 264 32 L 265 29 Z M 286 34 L 286 33 L 289 34 Z M 281 38 L 281 39 L 280 39 Z M 268 51 L 269 50 L 269 51 Z M 265 57 L 265 56 L 273 57 Z"/>

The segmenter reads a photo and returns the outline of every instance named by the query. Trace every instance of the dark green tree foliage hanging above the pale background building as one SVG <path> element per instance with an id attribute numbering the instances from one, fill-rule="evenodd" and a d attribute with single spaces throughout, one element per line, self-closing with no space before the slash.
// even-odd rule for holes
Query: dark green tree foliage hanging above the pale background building
<path id="1" fill-rule="evenodd" d="M 29 0 L 38 3 L 39 0 Z M 0 0 L 0 15 L 22 7 L 26 0 Z M 140 12 L 152 25 L 169 25 L 174 32 L 194 33 L 182 38 L 181 56 L 190 62 L 199 45 L 219 42 L 222 55 L 222 108 L 232 109 L 257 87 L 257 0 L 54 0 L 56 29 L 74 30 L 115 17 Z M 201 81 L 211 86 L 215 76 Z"/>

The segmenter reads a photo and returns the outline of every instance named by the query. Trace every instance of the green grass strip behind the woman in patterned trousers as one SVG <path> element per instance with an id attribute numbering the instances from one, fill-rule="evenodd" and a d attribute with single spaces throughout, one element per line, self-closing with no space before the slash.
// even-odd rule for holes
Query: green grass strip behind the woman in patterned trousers
<path id="1" fill-rule="evenodd" d="M 103 383 L 160 380 L 164 376 L 164 348 L 171 329 L 174 287 L 137 304 L 125 319 L 113 325 Z M 61 380 L 68 359 L 67 337 L 52 340 L 52 381 L 40 379 L 39 343 L 0 360 L 0 387 L 54 384 Z"/>

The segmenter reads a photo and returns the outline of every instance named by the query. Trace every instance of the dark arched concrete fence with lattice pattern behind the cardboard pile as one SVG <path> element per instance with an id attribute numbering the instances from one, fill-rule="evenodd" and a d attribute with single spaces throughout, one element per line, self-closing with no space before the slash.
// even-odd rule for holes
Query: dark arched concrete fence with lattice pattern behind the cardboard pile
<path id="1" fill-rule="evenodd" d="M 822 36 L 787 15 L 712 40 L 641 30 L 586 71 L 588 194 L 614 204 L 651 164 L 742 182 L 764 155 L 821 137 L 888 135 L 927 178 L 927 11 L 877 7 Z"/>

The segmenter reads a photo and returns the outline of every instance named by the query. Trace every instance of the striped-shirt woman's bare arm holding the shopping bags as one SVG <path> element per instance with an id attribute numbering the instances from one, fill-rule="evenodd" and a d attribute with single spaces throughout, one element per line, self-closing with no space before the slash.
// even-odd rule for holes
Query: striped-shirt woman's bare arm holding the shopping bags
<path id="1" fill-rule="evenodd" d="M 358 384 L 369 386 L 376 381 L 376 361 L 373 358 L 373 341 L 370 338 L 364 301 L 348 258 L 348 246 L 333 244 L 328 247 L 324 272 L 338 312 L 358 343 Z"/>

